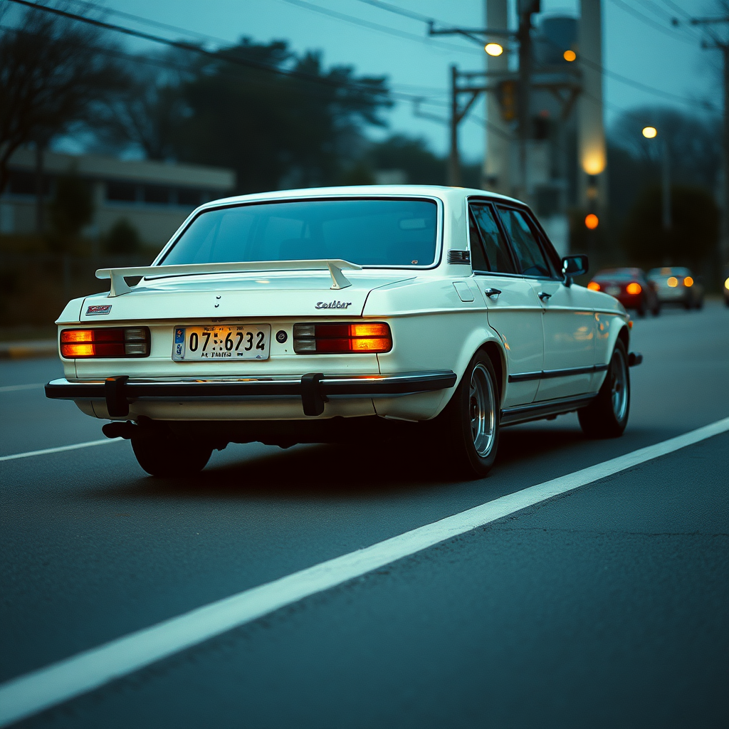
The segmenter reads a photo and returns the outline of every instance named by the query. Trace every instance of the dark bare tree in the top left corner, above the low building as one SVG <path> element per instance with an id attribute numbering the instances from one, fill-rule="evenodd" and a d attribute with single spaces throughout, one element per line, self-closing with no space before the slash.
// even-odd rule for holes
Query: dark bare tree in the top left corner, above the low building
<path id="1" fill-rule="evenodd" d="M 42 151 L 126 84 L 98 28 L 43 9 L 2 15 L 11 22 L 0 31 L 0 193 L 18 147 Z"/>

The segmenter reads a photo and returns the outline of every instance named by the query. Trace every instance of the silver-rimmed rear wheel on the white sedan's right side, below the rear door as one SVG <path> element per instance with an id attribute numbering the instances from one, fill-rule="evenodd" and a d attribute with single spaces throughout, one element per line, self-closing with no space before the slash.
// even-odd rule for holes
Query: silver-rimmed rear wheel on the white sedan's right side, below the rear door
<path id="1" fill-rule="evenodd" d="M 496 460 L 501 397 L 494 365 L 478 351 L 459 386 L 438 416 L 440 447 L 445 445 L 448 470 L 466 478 L 483 478 Z"/>

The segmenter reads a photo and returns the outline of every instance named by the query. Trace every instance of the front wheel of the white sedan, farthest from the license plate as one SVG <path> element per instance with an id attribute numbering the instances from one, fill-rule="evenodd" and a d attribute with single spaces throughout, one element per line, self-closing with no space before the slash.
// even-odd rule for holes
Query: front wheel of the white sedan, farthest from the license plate
<path id="1" fill-rule="evenodd" d="M 631 380 L 625 345 L 617 340 L 610 365 L 597 397 L 577 411 L 582 432 L 591 438 L 617 438 L 628 424 L 631 409 Z"/>

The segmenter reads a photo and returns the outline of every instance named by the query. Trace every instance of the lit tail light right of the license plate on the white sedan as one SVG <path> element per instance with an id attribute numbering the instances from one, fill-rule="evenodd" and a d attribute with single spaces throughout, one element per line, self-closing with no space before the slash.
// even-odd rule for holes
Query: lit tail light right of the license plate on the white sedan
<path id="1" fill-rule="evenodd" d="M 294 324 L 297 354 L 349 354 L 389 352 L 392 335 L 389 324 Z"/>

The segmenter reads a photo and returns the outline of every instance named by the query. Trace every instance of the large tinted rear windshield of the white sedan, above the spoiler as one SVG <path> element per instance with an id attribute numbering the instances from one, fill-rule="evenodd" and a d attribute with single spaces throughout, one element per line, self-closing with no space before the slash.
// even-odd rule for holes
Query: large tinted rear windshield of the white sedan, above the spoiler
<path id="1" fill-rule="evenodd" d="M 432 265 L 436 219 L 434 201 L 399 198 L 213 208 L 192 220 L 163 265 L 322 258 L 372 266 Z"/>

